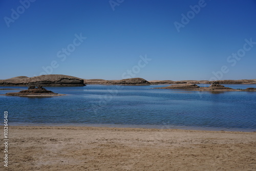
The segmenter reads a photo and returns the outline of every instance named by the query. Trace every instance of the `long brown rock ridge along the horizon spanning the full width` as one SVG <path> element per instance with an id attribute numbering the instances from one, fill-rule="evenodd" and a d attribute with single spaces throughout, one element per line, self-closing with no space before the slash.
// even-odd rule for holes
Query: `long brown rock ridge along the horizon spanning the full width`
<path id="1" fill-rule="evenodd" d="M 128 78 L 121 80 L 104 79 L 81 79 L 68 75 L 49 74 L 35 77 L 18 76 L 9 79 L 0 79 L 0 86 L 85 86 L 85 84 L 127 84 L 127 85 L 147 85 L 147 84 L 211 84 L 214 81 L 208 80 L 152 80 L 147 81 L 143 78 Z M 256 84 L 256 79 L 241 80 L 218 80 L 220 84 Z"/>

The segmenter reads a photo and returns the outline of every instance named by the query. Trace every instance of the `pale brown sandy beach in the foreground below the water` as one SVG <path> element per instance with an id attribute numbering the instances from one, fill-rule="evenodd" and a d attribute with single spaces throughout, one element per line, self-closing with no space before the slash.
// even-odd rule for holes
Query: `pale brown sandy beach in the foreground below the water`
<path id="1" fill-rule="evenodd" d="M 254 132 L 9 126 L 8 134 L 9 167 L 1 143 L 0 170 L 256 170 Z"/>

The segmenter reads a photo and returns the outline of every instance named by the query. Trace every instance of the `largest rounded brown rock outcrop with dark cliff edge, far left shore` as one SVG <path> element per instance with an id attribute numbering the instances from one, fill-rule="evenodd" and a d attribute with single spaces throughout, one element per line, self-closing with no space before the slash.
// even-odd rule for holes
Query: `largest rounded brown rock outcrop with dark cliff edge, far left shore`
<path id="1" fill-rule="evenodd" d="M 19 76 L 0 80 L 0 86 L 85 86 L 83 79 L 59 74 L 40 75 L 36 77 Z"/>

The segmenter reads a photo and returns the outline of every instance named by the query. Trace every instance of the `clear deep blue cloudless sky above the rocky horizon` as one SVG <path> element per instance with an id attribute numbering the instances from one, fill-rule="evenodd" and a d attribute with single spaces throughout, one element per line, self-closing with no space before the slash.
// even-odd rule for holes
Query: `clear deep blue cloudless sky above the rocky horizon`
<path id="1" fill-rule="evenodd" d="M 256 78 L 254 0 L 21 2 L 0 1 L 0 79 L 42 67 L 85 79 L 122 79 L 127 70 L 146 80 Z"/>

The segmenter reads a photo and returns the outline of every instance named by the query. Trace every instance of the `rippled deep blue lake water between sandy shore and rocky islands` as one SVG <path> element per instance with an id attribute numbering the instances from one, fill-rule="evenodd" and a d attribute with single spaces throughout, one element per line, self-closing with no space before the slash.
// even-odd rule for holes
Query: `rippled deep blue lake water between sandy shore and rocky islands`
<path id="1" fill-rule="evenodd" d="M 0 107 L 3 117 L 4 111 L 8 111 L 9 125 L 256 131 L 256 92 L 151 89 L 165 86 L 168 85 L 47 87 L 67 95 L 48 98 L 0 96 Z M 256 88 L 256 84 L 224 86 Z M 0 87 L 5 88 L 27 89 Z M 0 94 L 18 91 L 0 90 Z"/>

